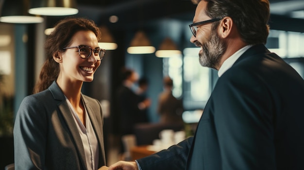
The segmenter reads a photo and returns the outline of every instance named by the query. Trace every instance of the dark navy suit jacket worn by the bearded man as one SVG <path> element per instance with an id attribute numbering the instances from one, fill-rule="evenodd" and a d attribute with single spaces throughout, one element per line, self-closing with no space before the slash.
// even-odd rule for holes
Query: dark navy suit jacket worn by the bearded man
<path id="1" fill-rule="evenodd" d="M 142 170 L 304 170 L 304 80 L 263 45 L 218 82 L 194 137 L 142 159 Z"/>

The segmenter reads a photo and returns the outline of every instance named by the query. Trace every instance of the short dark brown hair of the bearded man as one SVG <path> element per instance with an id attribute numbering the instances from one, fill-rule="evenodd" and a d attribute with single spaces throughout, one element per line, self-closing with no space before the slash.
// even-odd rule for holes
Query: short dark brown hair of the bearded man
<path id="1" fill-rule="evenodd" d="M 192 0 L 198 4 L 201 0 Z M 211 18 L 229 16 L 236 24 L 244 42 L 249 45 L 266 44 L 269 34 L 269 0 L 205 0 L 205 14 Z M 213 23 L 218 27 L 219 21 Z"/>

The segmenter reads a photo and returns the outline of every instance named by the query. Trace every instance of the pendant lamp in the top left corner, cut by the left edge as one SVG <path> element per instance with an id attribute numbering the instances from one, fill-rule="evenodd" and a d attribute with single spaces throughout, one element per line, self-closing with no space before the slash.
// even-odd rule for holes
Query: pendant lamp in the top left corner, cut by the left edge
<path id="1" fill-rule="evenodd" d="M 30 24 L 41 23 L 43 17 L 29 15 L 29 1 L 2 0 L 0 1 L 0 22 Z"/>

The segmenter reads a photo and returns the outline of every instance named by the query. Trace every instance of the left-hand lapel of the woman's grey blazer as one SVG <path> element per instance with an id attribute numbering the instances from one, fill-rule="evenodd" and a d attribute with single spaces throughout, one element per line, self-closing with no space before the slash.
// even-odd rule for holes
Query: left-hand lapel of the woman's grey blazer
<path id="1" fill-rule="evenodd" d="M 84 146 L 83 146 L 81 137 L 79 135 L 77 125 L 75 124 L 73 115 L 71 114 L 70 108 L 66 101 L 66 98 L 55 81 L 52 83 L 52 85 L 49 87 L 49 89 L 50 89 L 51 93 L 53 94 L 54 99 L 59 101 L 57 106 L 60 109 L 62 116 L 67 123 L 68 130 L 71 133 L 72 138 L 74 139 L 76 149 L 79 153 L 80 161 L 83 165 L 83 169 L 86 170 Z"/>

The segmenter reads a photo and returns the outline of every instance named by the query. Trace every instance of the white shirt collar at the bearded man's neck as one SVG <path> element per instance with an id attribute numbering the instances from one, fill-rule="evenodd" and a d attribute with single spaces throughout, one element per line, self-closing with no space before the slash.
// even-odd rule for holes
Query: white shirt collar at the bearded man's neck
<path id="1" fill-rule="evenodd" d="M 221 77 L 232 65 L 236 62 L 236 60 L 252 45 L 244 46 L 243 48 L 236 51 L 232 56 L 230 56 L 228 59 L 226 59 L 223 64 L 221 65 L 218 75 Z"/>

